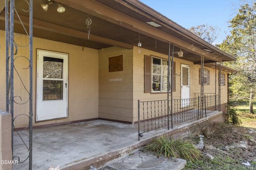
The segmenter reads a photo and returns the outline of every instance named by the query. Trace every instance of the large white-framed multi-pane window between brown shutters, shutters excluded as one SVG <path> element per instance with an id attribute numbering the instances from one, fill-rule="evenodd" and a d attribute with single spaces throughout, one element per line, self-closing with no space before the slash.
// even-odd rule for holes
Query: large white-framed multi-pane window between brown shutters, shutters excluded
<path id="1" fill-rule="evenodd" d="M 152 92 L 166 92 L 168 89 L 168 61 L 152 57 Z"/>

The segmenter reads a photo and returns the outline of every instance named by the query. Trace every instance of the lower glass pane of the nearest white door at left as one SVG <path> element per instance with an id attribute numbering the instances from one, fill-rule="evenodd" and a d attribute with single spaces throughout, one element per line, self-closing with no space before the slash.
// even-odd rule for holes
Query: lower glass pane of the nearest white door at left
<path id="1" fill-rule="evenodd" d="M 62 80 L 43 80 L 43 101 L 62 100 L 63 81 Z"/>

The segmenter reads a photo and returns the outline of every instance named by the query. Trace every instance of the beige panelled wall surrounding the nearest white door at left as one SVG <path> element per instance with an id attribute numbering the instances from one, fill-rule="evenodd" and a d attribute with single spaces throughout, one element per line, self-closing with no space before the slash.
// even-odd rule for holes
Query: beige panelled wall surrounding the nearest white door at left
<path id="1" fill-rule="evenodd" d="M 0 109 L 5 110 L 5 31 L 0 31 Z M 22 45 L 28 43 L 28 37 L 25 35 L 16 36 L 15 41 Z M 46 39 L 33 38 L 33 114 L 36 114 L 36 49 L 49 51 L 58 51 L 69 54 L 69 79 L 68 79 L 68 118 L 44 121 L 33 125 L 45 125 L 50 123 L 60 123 L 76 121 L 83 119 L 98 118 L 98 50 L 48 41 Z M 18 47 L 16 56 L 29 57 L 28 47 Z M 15 66 L 22 77 L 26 87 L 28 87 L 29 77 L 28 62 L 22 57 L 15 60 Z M 22 87 L 18 76 L 14 73 L 15 89 L 14 96 L 21 96 L 22 101 L 16 98 L 18 102 L 27 100 L 28 94 Z M 28 104 L 14 106 L 14 117 L 20 113 L 28 114 Z M 15 127 L 25 127 L 28 125 L 26 116 L 19 116 L 15 122 Z"/>

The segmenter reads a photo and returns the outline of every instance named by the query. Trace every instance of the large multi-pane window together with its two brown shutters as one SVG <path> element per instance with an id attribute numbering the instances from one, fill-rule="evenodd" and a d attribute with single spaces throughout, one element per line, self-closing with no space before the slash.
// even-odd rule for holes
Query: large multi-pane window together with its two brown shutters
<path id="1" fill-rule="evenodd" d="M 167 92 L 168 90 L 168 61 L 145 55 L 145 84 L 144 92 Z M 173 63 L 173 84 L 175 91 L 175 62 Z"/>

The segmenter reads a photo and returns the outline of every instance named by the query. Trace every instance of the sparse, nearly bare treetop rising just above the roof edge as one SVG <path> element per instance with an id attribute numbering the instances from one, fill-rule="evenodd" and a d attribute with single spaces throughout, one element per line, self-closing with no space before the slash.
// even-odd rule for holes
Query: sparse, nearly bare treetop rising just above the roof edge
<path id="1" fill-rule="evenodd" d="M 220 28 L 208 24 L 190 27 L 189 31 L 212 44 L 218 38 Z"/>

